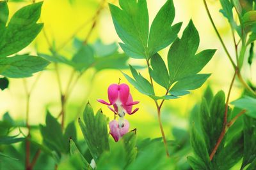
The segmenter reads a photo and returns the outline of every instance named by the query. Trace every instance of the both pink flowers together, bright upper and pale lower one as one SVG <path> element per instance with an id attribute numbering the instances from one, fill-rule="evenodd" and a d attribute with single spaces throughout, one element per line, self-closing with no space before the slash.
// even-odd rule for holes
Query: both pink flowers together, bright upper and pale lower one
<path id="1" fill-rule="evenodd" d="M 132 110 L 132 106 L 138 104 L 138 101 L 133 101 L 130 94 L 129 86 L 122 84 L 111 84 L 108 87 L 108 100 L 109 103 L 99 99 L 102 104 L 108 105 L 108 108 L 119 116 L 118 121 L 112 120 L 109 122 L 110 134 L 113 136 L 115 141 L 118 141 L 124 134 L 129 132 L 129 122 L 125 120 L 125 114 L 132 115 L 139 108 Z M 113 106 L 113 108 L 111 107 Z"/>

